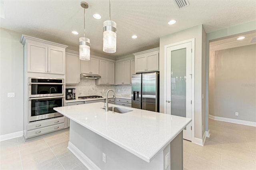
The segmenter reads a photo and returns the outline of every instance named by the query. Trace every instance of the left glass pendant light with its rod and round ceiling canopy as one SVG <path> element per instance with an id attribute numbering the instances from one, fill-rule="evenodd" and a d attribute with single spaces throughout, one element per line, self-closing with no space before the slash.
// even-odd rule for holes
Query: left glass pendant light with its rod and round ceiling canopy
<path id="1" fill-rule="evenodd" d="M 84 37 L 79 38 L 79 59 L 90 60 L 90 39 L 85 38 L 85 9 L 89 7 L 88 3 L 81 2 L 84 8 Z"/>

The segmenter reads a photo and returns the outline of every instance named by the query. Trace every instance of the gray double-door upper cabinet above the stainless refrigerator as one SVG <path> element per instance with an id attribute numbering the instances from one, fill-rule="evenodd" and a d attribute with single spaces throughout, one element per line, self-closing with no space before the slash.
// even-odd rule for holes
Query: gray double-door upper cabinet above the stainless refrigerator
<path id="1" fill-rule="evenodd" d="M 135 55 L 135 72 L 159 71 L 159 48 L 134 53 Z"/>

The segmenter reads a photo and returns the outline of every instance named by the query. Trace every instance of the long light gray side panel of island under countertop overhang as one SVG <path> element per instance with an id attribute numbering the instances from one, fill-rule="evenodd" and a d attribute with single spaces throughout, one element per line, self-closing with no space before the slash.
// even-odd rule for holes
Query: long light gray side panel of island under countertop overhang
<path id="1" fill-rule="evenodd" d="M 163 151 L 160 152 L 151 162 L 146 162 L 138 156 L 135 156 L 72 120 L 70 120 L 70 143 L 78 148 L 100 169 L 165 169 Z M 102 161 L 102 152 L 106 154 L 106 163 Z"/>

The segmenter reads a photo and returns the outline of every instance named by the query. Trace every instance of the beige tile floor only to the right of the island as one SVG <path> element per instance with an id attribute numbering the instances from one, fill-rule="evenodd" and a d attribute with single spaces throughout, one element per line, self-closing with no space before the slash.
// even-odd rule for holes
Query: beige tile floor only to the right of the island
<path id="1" fill-rule="evenodd" d="M 256 127 L 209 119 L 204 146 L 184 140 L 184 170 L 256 170 Z"/>

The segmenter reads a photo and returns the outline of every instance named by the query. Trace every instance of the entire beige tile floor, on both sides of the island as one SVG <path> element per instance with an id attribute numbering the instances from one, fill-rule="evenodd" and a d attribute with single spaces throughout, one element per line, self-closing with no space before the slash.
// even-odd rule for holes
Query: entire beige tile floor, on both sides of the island
<path id="1" fill-rule="evenodd" d="M 184 170 L 256 170 L 256 127 L 209 119 L 210 138 L 184 140 Z M 87 170 L 67 149 L 69 131 L 24 142 L 0 142 L 0 170 Z"/>

